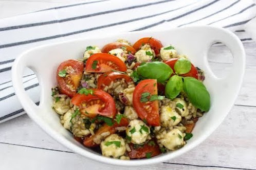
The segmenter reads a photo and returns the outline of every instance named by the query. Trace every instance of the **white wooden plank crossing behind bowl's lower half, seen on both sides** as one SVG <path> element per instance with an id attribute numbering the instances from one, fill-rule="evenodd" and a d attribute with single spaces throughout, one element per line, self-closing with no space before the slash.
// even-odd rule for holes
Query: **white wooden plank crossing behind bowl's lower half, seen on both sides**
<path id="1" fill-rule="evenodd" d="M 252 140 L 256 138 L 256 129 L 253 128 L 255 112 L 254 107 L 234 106 L 225 121 L 206 141 L 169 162 L 256 169 L 256 143 Z M 4 122 L 0 125 L 0 132 L 0 142 L 69 151 L 45 134 L 27 115 Z M 188 166 L 186 168 L 194 168 Z"/>

